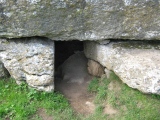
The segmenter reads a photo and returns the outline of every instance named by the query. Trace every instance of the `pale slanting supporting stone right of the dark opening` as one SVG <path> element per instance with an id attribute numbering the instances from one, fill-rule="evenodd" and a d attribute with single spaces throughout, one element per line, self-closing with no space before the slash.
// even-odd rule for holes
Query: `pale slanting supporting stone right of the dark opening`
<path id="1" fill-rule="evenodd" d="M 85 54 L 115 72 L 132 88 L 160 94 L 159 42 L 111 42 L 100 45 L 85 42 Z"/>

